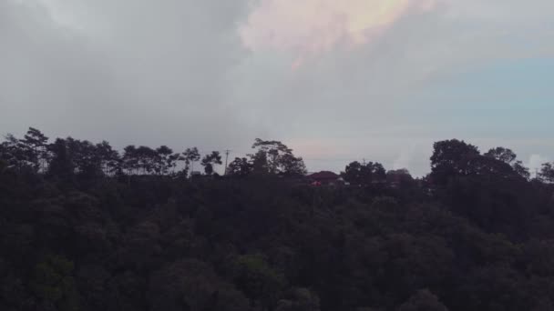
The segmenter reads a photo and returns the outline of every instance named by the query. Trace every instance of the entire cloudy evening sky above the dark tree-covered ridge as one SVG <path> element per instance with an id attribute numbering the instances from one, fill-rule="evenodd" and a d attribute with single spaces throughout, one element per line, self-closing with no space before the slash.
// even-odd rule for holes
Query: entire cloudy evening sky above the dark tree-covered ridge
<path id="1" fill-rule="evenodd" d="M 551 0 L 0 0 L 0 133 L 429 171 L 554 160 Z"/>

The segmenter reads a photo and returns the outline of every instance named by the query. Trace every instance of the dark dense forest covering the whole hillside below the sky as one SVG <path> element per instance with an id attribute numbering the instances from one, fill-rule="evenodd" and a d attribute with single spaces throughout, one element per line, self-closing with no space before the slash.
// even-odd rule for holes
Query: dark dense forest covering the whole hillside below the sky
<path id="1" fill-rule="evenodd" d="M 426 176 L 364 161 L 312 186 L 279 141 L 224 166 L 6 135 L 0 310 L 554 310 L 554 163 L 429 147 Z"/>

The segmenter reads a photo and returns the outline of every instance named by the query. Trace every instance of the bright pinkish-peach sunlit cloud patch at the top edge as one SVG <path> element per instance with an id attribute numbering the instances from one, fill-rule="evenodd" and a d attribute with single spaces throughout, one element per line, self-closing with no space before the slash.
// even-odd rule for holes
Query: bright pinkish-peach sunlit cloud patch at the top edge
<path id="1" fill-rule="evenodd" d="M 340 44 L 364 45 L 401 16 L 434 5 L 434 0 L 262 0 L 240 33 L 252 51 L 313 55 Z"/>

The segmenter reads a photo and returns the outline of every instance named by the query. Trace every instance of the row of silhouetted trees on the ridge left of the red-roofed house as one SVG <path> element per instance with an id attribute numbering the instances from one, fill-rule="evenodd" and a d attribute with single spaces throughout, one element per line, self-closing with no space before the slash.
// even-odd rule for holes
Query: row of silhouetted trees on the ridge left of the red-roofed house
<path id="1" fill-rule="evenodd" d="M 72 137 L 56 138 L 52 143 L 40 130 L 30 127 L 23 138 L 6 135 L 0 145 L 0 160 L 18 172 L 43 173 L 46 176 L 190 176 L 193 166 L 200 161 L 205 175 L 217 175 L 215 166 L 221 166 L 221 154 L 213 151 L 200 156 L 197 147 L 174 153 L 167 145 L 158 148 L 128 145 L 123 153 L 107 141 L 93 144 Z M 292 149 L 277 141 L 256 139 L 254 153 L 248 158 L 231 162 L 229 174 L 272 174 L 302 176 L 306 172 L 301 157 L 293 156 Z M 177 168 L 180 169 L 177 169 Z M 225 172 L 227 173 L 227 167 Z"/>

